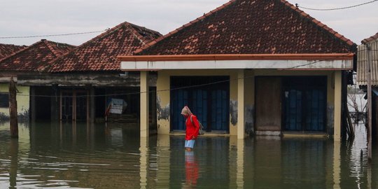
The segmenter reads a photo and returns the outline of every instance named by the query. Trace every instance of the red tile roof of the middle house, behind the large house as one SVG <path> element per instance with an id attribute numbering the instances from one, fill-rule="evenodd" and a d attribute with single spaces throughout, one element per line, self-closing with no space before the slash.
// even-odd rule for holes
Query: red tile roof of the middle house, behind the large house
<path id="1" fill-rule="evenodd" d="M 120 71 L 118 55 L 132 55 L 160 36 L 157 31 L 123 22 L 55 59 L 49 71 Z"/>

